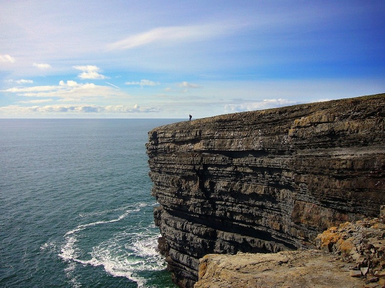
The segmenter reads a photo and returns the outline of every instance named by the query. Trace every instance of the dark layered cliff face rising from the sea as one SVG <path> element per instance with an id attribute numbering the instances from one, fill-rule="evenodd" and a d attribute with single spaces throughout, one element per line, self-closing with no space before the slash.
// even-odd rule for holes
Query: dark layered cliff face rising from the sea
<path id="1" fill-rule="evenodd" d="M 219 115 L 149 132 L 155 223 L 173 280 L 209 253 L 312 248 L 385 203 L 385 94 Z"/>

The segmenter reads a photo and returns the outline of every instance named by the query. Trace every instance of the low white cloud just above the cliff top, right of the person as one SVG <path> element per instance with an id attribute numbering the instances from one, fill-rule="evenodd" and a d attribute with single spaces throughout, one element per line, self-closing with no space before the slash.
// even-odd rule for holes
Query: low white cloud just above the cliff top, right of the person
<path id="1" fill-rule="evenodd" d="M 263 110 L 269 108 L 277 108 L 288 105 L 295 105 L 299 102 L 288 100 L 288 99 L 264 99 L 260 101 L 246 101 L 244 103 L 237 104 L 226 104 L 225 111 L 226 113 L 233 112 L 243 112 L 243 111 L 254 111 L 254 110 Z"/>

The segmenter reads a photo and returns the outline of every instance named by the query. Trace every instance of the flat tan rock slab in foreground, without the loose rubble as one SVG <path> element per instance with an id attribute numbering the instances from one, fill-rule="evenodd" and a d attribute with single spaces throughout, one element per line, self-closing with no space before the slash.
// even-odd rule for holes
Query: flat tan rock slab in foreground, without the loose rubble
<path id="1" fill-rule="evenodd" d="M 194 288 L 363 287 L 363 281 L 350 277 L 341 265 L 341 261 L 320 250 L 209 254 L 200 259 L 199 271 L 204 268 L 205 273 L 199 273 Z"/>

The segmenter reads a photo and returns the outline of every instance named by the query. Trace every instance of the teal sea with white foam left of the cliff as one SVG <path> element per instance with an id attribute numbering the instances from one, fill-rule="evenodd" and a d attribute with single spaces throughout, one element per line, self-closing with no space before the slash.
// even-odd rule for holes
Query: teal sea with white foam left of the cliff
<path id="1" fill-rule="evenodd" d="M 175 287 L 145 143 L 173 119 L 0 119 L 0 287 Z"/>

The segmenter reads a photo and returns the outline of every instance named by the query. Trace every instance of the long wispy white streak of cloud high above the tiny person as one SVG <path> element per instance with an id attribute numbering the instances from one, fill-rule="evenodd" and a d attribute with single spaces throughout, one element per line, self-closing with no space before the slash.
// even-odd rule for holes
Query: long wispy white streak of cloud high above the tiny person
<path id="1" fill-rule="evenodd" d="M 233 30 L 231 28 L 230 25 L 225 25 L 223 23 L 158 27 L 110 43 L 107 45 L 107 49 L 126 50 L 147 45 L 152 42 L 177 44 L 178 42 L 199 41 L 230 33 L 230 31 Z"/>

